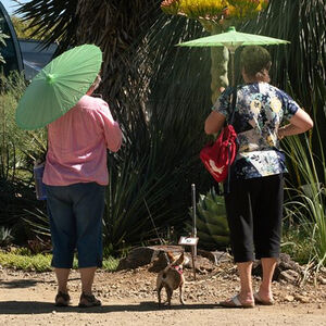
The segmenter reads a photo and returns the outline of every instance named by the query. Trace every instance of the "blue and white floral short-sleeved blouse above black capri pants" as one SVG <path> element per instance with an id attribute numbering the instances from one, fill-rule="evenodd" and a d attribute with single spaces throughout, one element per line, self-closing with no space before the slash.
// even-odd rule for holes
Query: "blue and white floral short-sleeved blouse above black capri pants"
<path id="1" fill-rule="evenodd" d="M 227 121 L 231 92 L 233 88 L 225 89 L 213 106 Z M 281 122 L 290 120 L 298 109 L 298 103 L 286 92 L 267 83 L 237 87 L 233 125 L 238 133 L 239 150 L 231 178 L 249 179 L 287 172 L 277 130 Z"/>

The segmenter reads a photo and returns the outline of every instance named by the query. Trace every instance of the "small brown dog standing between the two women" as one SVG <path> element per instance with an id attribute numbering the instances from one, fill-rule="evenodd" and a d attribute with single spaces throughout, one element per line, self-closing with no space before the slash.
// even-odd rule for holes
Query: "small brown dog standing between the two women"
<path id="1" fill-rule="evenodd" d="M 184 252 L 175 258 L 172 252 L 167 252 L 170 264 L 159 273 L 156 279 L 156 291 L 159 305 L 161 305 L 161 290 L 164 287 L 167 296 L 167 304 L 171 305 L 171 298 L 174 290 L 179 288 L 180 303 L 185 304 L 184 301 L 184 288 L 185 288 L 185 276 L 183 274 L 183 264 L 185 262 Z"/>

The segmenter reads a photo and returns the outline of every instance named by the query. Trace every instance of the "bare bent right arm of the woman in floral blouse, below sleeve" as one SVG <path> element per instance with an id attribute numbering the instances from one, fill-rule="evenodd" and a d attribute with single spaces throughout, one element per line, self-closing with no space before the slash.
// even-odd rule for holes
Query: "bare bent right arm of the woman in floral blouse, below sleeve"
<path id="1" fill-rule="evenodd" d="M 310 115 L 299 109 L 297 113 L 290 118 L 290 123 L 278 129 L 278 138 L 281 139 L 286 136 L 293 136 L 302 134 L 314 126 Z"/>

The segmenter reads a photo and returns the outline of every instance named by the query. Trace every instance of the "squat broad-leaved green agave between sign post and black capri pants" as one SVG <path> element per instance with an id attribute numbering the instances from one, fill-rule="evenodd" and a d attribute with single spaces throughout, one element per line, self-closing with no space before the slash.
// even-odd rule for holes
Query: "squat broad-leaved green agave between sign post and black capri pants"
<path id="1" fill-rule="evenodd" d="M 189 214 L 192 216 L 192 208 Z M 229 229 L 226 218 L 224 197 L 216 195 L 211 188 L 206 195 L 200 195 L 196 210 L 197 235 L 199 248 L 215 250 L 225 249 L 229 244 Z M 187 222 L 186 229 L 192 225 Z"/>

